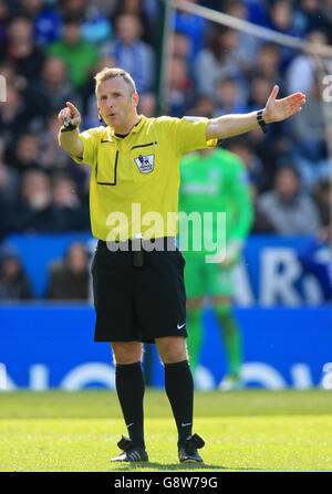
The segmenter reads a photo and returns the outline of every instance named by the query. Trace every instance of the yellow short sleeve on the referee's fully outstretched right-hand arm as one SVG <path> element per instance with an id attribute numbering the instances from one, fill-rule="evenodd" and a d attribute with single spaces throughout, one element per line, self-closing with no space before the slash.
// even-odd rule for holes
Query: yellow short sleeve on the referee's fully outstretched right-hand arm
<path id="1" fill-rule="evenodd" d="M 176 150 L 185 153 L 207 147 L 215 147 L 218 139 L 206 139 L 206 127 L 209 119 L 205 117 L 174 118 L 172 125 L 172 145 Z"/>

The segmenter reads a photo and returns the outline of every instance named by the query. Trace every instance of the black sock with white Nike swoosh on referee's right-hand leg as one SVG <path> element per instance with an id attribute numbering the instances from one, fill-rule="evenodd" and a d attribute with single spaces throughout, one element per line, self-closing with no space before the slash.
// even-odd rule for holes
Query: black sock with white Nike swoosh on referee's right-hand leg
<path id="1" fill-rule="evenodd" d="M 194 380 L 188 360 L 165 364 L 165 390 L 172 406 L 178 431 L 184 442 L 193 430 Z"/>

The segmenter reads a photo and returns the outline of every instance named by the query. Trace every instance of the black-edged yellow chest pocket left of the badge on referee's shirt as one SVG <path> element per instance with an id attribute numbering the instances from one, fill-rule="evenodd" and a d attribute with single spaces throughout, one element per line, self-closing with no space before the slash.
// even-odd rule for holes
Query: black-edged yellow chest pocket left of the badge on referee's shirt
<path id="1" fill-rule="evenodd" d="M 98 146 L 95 177 L 98 186 L 116 186 L 118 150 L 112 141 L 101 141 Z"/>

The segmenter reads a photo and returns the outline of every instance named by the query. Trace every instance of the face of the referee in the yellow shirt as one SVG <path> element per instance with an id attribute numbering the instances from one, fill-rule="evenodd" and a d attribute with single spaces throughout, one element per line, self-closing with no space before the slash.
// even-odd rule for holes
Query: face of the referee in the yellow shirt
<path id="1" fill-rule="evenodd" d="M 96 95 L 103 120 L 113 127 L 115 133 L 129 132 L 136 117 L 137 93 L 132 95 L 123 77 L 115 76 L 98 84 Z"/>

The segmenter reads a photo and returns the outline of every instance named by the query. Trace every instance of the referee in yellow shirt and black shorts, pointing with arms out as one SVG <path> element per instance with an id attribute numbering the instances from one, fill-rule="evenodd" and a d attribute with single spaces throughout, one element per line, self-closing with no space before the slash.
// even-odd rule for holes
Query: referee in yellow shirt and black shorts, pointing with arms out
<path id="1" fill-rule="evenodd" d="M 80 112 L 68 102 L 59 113 L 59 143 L 75 161 L 92 168 L 91 224 L 98 239 L 92 264 L 94 340 L 111 343 L 116 391 L 129 435 L 122 437 L 117 445 L 123 452 L 112 461 L 148 461 L 142 344 L 155 343 L 177 425 L 179 461 L 201 462 L 197 450 L 205 443 L 193 433 L 185 262 L 175 248 L 179 160 L 185 153 L 215 146 L 217 139 L 259 126 L 266 132 L 267 124 L 298 113 L 305 96 L 297 93 L 277 99 L 274 86 L 260 112 L 212 119 L 146 118 L 137 114 L 138 94 L 128 73 L 105 67 L 95 83 L 100 119 L 106 127 L 80 133 Z M 152 227 L 156 218 L 163 221 Z"/>

